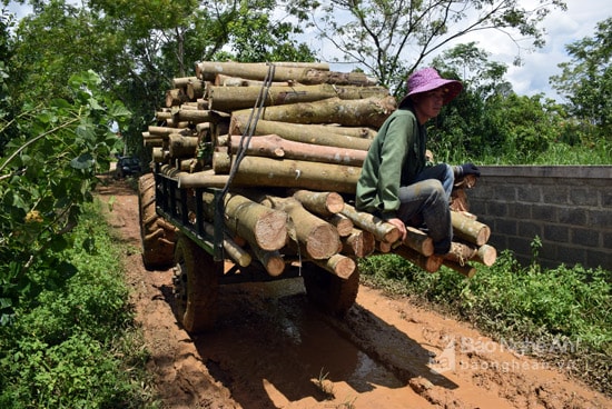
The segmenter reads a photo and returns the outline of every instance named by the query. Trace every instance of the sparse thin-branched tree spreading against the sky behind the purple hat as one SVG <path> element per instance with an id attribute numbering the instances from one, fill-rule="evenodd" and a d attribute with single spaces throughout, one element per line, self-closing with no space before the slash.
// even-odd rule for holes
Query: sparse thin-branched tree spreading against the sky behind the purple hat
<path id="1" fill-rule="evenodd" d="M 366 67 L 398 96 L 406 74 L 427 57 L 471 32 L 497 30 L 542 47 L 539 23 L 562 0 L 527 10 L 519 0 L 332 0 L 317 21 L 320 36 L 344 53 L 344 61 Z"/>

